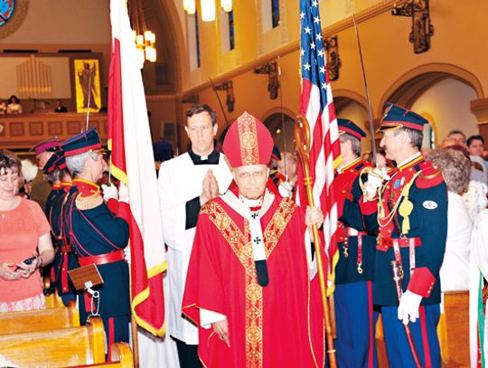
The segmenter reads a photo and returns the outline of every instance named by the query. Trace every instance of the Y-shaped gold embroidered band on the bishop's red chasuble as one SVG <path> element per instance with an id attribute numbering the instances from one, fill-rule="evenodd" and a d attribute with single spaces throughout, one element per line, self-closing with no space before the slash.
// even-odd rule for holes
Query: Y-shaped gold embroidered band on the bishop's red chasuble
<path id="1" fill-rule="evenodd" d="M 295 208 L 296 205 L 292 201 L 282 200 L 277 212 L 267 224 L 266 230 L 263 231 L 267 258 L 275 249 Z M 213 201 L 202 207 L 202 213 L 208 214 L 211 222 L 221 232 L 246 270 L 246 367 L 261 368 L 263 366 L 263 289 L 258 285 L 256 277 L 249 222 L 245 220 L 244 233 L 242 233 L 221 205 Z"/>

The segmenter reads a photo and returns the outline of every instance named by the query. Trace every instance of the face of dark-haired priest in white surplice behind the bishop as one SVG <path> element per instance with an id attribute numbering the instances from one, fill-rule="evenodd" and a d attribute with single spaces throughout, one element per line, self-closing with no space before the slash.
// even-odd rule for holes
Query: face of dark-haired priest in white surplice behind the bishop
<path id="1" fill-rule="evenodd" d="M 192 142 L 192 151 L 198 156 L 209 156 L 213 151 L 213 137 L 217 134 L 217 124 L 211 124 L 211 116 L 204 111 L 186 119 L 184 127 Z"/>

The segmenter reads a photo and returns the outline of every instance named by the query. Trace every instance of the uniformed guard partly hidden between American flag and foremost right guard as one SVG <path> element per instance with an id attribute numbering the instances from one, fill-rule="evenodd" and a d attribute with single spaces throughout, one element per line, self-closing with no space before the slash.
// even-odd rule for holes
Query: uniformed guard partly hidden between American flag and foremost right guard
<path id="1" fill-rule="evenodd" d="M 358 177 L 371 164 L 361 160 L 361 138 L 366 134 L 351 120 L 338 118 L 343 163 L 334 179 L 338 211 L 339 261 L 335 267 L 337 363 L 343 367 L 377 366 L 372 280 L 376 235 L 364 229 Z"/>

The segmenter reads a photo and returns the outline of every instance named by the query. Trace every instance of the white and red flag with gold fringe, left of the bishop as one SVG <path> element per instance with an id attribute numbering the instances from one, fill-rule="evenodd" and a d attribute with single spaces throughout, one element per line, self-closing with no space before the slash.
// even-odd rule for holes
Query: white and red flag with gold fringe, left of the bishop
<path id="1" fill-rule="evenodd" d="M 166 259 L 145 90 L 125 0 L 110 0 L 108 149 L 112 175 L 127 184 L 132 314 L 138 326 L 164 335 Z"/>

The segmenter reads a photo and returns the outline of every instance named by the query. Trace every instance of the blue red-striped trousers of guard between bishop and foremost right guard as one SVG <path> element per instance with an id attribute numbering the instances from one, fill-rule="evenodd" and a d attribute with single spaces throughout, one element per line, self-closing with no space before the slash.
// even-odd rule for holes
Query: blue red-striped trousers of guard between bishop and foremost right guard
<path id="1" fill-rule="evenodd" d="M 377 367 L 371 281 L 335 285 L 335 349 L 339 367 Z"/>

